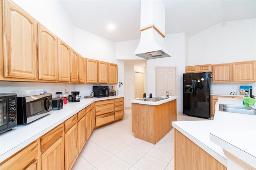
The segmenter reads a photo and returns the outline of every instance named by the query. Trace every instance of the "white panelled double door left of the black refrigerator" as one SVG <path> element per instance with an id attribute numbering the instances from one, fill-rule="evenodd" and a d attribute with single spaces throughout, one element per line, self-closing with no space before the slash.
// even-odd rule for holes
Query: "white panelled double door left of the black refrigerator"
<path id="1" fill-rule="evenodd" d="M 156 96 L 176 96 L 176 67 L 156 68 Z"/>

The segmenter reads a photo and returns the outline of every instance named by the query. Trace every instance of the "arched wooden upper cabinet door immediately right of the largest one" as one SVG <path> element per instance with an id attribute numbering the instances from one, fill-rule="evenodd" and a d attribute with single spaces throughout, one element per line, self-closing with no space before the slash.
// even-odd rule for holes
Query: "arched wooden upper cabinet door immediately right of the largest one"
<path id="1" fill-rule="evenodd" d="M 38 24 L 38 79 L 58 80 L 58 38 Z"/>

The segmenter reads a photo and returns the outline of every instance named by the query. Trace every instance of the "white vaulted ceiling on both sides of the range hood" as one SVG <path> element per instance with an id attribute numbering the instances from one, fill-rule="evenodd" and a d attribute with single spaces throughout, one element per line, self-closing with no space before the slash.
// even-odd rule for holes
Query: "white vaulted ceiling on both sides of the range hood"
<path id="1" fill-rule="evenodd" d="M 122 42 L 140 38 L 140 0 L 61 0 L 74 26 Z M 220 22 L 256 18 L 256 0 L 163 0 L 165 34 L 188 37 Z M 108 30 L 114 24 L 114 30 Z"/>

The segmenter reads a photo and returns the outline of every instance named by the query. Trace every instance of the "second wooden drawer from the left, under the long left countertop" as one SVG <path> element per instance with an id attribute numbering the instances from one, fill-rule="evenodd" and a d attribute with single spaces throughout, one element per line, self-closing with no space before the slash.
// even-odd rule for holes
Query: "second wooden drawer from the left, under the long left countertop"
<path id="1" fill-rule="evenodd" d="M 42 153 L 44 153 L 44 151 L 50 148 L 50 146 L 52 146 L 59 138 L 63 136 L 63 128 L 64 125 L 62 123 L 40 138 Z"/>

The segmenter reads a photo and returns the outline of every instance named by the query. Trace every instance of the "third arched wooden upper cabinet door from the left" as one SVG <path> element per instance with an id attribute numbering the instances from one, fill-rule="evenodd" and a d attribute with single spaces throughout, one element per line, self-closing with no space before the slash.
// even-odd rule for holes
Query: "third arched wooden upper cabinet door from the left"
<path id="1" fill-rule="evenodd" d="M 70 47 L 58 39 L 58 81 L 70 81 Z"/>

